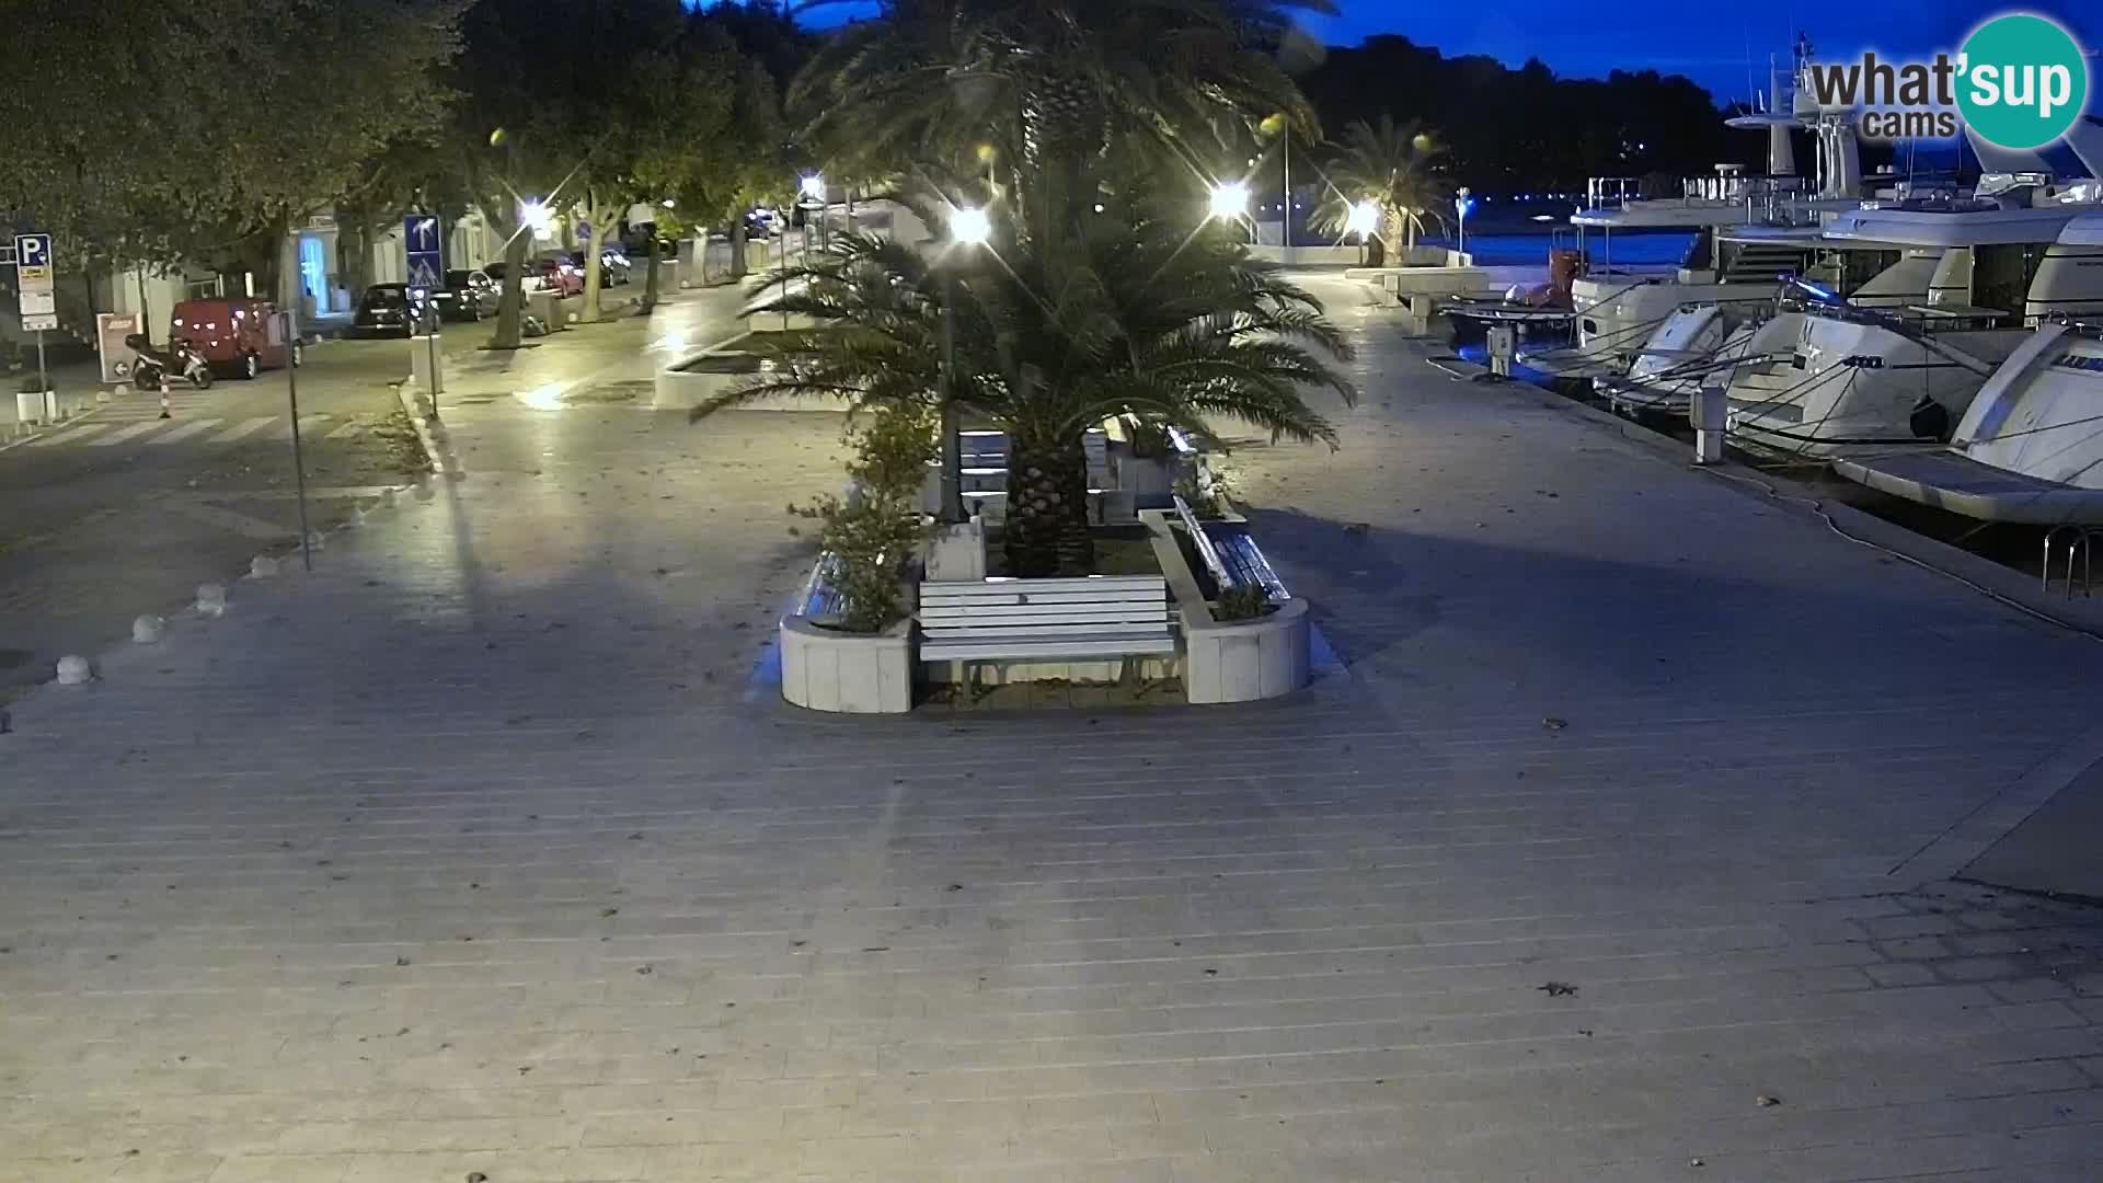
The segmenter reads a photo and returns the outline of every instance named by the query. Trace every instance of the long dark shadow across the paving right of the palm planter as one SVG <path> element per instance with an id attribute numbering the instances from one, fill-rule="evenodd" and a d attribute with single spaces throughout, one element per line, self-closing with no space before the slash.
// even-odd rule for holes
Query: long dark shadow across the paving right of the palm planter
<path id="1" fill-rule="evenodd" d="M 1632 562 L 1251 509 L 1287 587 L 1346 665 L 1420 680 L 1514 671 L 1598 690 L 1701 684 L 1731 697 L 1849 682 L 2063 686 L 2067 634 L 1931 575 L 1823 539 L 1647 539 Z M 1762 690 L 1767 688 L 1767 690 Z"/>

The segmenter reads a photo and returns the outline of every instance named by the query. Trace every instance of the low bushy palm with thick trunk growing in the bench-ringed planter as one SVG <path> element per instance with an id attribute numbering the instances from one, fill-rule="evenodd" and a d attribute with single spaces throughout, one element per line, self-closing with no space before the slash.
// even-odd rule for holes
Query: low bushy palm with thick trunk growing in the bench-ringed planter
<path id="1" fill-rule="evenodd" d="M 1327 385 L 1346 402 L 1356 392 L 1319 356 L 1348 347 L 1314 297 L 1226 236 L 1192 238 L 1188 221 L 1142 204 L 1083 202 L 1045 183 L 1022 208 L 969 259 L 850 234 L 810 265 L 770 276 L 789 295 L 753 314 L 808 316 L 818 328 L 778 370 L 694 415 L 789 392 L 850 406 L 934 404 L 948 307 L 955 400 L 1009 436 L 1003 539 L 1007 570 L 1022 577 L 1087 573 L 1081 442 L 1112 415 L 1207 440 L 1207 421 L 1226 417 L 1335 446 L 1304 387 Z"/>

